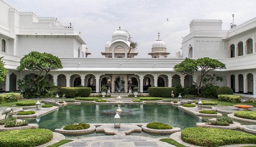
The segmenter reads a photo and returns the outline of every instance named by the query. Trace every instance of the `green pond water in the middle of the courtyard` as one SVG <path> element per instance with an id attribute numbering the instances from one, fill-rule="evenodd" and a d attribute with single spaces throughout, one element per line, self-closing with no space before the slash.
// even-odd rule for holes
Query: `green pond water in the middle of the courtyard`
<path id="1" fill-rule="evenodd" d="M 67 105 L 60 107 L 40 118 L 39 128 L 52 131 L 74 123 L 113 123 L 117 105 Z M 121 123 L 163 122 L 181 129 L 196 127 L 196 122 L 205 122 L 202 117 L 194 116 L 172 105 L 121 105 Z M 29 123 L 37 123 L 34 119 Z"/>

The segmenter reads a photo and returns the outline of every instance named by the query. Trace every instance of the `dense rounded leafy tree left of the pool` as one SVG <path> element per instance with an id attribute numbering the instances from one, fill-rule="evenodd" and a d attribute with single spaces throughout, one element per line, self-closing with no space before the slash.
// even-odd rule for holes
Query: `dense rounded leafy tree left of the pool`
<path id="1" fill-rule="evenodd" d="M 50 53 L 39 53 L 37 51 L 31 51 L 29 54 L 24 55 L 20 60 L 20 66 L 17 67 L 18 70 L 24 71 L 39 71 L 40 73 L 34 79 L 26 80 L 24 85 L 20 85 L 25 91 L 33 89 L 38 89 L 38 86 L 42 86 L 42 81 L 46 78 L 48 72 L 51 69 L 63 68 L 60 58 L 54 56 Z M 23 80 L 24 81 L 24 80 Z M 23 82 L 20 80 L 19 82 Z M 40 83 L 40 84 L 39 84 Z M 38 85 L 39 84 L 39 85 Z"/>

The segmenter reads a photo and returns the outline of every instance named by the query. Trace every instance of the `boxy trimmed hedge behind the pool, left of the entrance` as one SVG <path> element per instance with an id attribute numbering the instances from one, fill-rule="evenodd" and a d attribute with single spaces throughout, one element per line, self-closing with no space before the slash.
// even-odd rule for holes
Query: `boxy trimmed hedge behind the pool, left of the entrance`
<path id="1" fill-rule="evenodd" d="M 89 97 L 91 94 L 90 87 L 61 87 L 61 94 L 65 97 Z"/>

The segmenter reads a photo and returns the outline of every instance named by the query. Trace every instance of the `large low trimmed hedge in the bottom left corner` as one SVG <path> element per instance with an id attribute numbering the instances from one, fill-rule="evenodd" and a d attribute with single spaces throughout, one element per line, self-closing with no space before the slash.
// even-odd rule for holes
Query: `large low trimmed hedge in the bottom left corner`
<path id="1" fill-rule="evenodd" d="M 0 147 L 34 147 L 53 139 L 48 129 L 21 129 L 0 132 Z"/>

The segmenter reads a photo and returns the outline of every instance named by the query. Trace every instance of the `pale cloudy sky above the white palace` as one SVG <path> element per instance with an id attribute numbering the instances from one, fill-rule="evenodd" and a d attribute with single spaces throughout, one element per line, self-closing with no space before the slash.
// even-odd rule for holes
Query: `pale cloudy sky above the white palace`
<path id="1" fill-rule="evenodd" d="M 158 38 L 165 42 L 169 57 L 181 51 L 182 37 L 189 34 L 193 19 L 221 19 L 222 30 L 256 17 L 255 0 L 4 0 L 20 12 L 55 17 L 63 25 L 71 22 L 81 32 L 88 58 L 104 58 L 105 43 L 119 26 L 137 42 L 135 58 L 151 58 Z M 167 18 L 169 21 L 167 21 Z"/>

